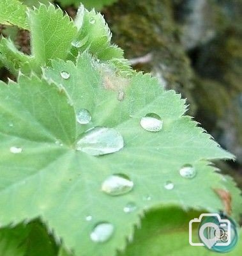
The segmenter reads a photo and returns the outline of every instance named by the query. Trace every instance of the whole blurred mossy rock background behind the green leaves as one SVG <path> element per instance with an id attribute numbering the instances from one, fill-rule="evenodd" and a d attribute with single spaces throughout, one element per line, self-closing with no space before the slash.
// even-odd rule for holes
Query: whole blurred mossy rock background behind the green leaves
<path id="1" fill-rule="evenodd" d="M 188 114 L 236 156 L 235 162 L 216 164 L 242 188 L 242 0 L 83 1 L 103 13 L 112 42 L 124 49 L 133 68 L 181 93 Z M 54 3 L 75 17 L 80 1 Z M 27 31 L 1 26 L 0 33 L 29 54 Z M 0 69 L 0 79 L 9 76 Z"/>

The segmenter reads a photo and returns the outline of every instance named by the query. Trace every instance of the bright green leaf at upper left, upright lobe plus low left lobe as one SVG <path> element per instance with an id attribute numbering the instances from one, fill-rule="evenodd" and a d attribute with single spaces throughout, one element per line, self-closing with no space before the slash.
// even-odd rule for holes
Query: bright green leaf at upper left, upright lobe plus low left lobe
<path id="1" fill-rule="evenodd" d="M 31 56 L 15 47 L 10 39 L 2 38 L 0 60 L 12 74 L 41 74 L 41 67 L 50 65 L 51 59 L 66 59 L 77 29 L 68 15 L 63 16 L 59 8 L 40 4 L 38 9 L 29 10 L 31 29 Z M 64 35 L 64 36 L 63 36 Z"/>

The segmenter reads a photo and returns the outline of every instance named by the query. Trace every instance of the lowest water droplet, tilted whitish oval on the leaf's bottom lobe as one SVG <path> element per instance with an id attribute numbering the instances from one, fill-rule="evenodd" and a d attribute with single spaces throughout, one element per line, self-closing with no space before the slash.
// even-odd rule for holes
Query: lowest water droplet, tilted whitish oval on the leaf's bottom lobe
<path id="1" fill-rule="evenodd" d="M 109 222 L 98 223 L 90 234 L 91 240 L 96 243 L 104 243 L 114 233 L 114 225 Z"/>

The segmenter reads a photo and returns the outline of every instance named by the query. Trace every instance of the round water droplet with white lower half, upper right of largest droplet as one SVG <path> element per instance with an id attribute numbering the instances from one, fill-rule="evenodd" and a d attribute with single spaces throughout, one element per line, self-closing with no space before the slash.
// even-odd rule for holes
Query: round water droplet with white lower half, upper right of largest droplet
<path id="1" fill-rule="evenodd" d="M 158 132 L 162 129 L 163 121 L 160 116 L 155 113 L 149 113 L 141 118 L 140 125 L 146 131 Z"/>

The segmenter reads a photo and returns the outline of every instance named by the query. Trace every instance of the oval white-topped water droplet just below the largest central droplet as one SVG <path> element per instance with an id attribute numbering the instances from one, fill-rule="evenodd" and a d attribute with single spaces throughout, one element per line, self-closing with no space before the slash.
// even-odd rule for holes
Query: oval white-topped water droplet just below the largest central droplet
<path id="1" fill-rule="evenodd" d="M 123 195 L 133 189 L 133 181 L 121 173 L 110 175 L 102 183 L 102 191 L 111 196 Z"/>

